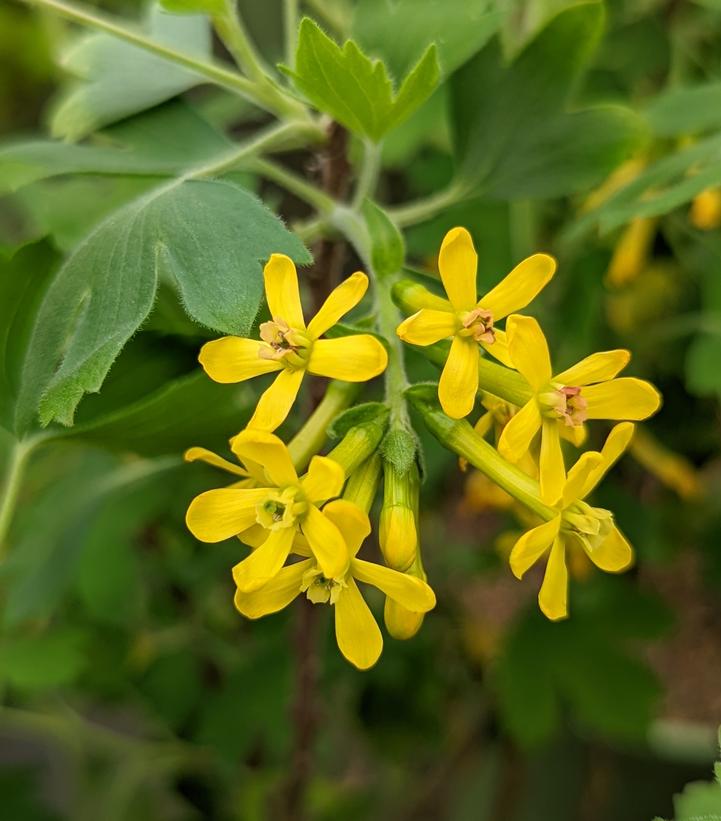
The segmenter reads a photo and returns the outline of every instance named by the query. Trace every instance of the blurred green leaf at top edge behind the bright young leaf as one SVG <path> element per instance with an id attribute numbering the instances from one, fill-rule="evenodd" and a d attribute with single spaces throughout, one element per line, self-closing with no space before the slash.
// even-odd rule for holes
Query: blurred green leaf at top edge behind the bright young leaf
<path id="1" fill-rule="evenodd" d="M 495 5 L 494 0 L 360 0 L 352 31 L 397 77 L 435 43 L 448 76 L 497 31 L 502 15 Z"/>

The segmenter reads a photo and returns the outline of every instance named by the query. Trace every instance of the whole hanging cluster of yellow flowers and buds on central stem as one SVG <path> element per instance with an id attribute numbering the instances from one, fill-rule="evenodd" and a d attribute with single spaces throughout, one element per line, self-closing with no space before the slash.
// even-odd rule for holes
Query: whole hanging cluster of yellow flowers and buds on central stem
<path id="1" fill-rule="evenodd" d="M 399 339 L 389 338 L 392 324 L 381 341 L 370 333 L 339 335 L 339 320 L 366 292 L 365 274 L 341 283 L 306 324 L 295 266 L 274 254 L 264 270 L 270 320 L 260 325 L 260 338 L 224 337 L 203 346 L 200 362 L 218 382 L 275 374 L 245 429 L 230 440 L 236 462 L 203 448 L 186 453 L 189 461 L 232 475 L 230 485 L 196 497 L 186 521 L 201 541 L 237 537 L 249 549 L 232 571 L 240 613 L 255 619 L 301 595 L 329 604 L 338 647 L 366 669 L 377 661 L 383 641 L 361 582 L 385 596 L 384 621 L 392 636 L 416 633 L 435 596 L 421 559 L 417 440 L 406 401 L 461 457 L 462 467 L 481 471 L 504 504 L 523 506 L 529 529 L 513 546 L 510 567 L 520 578 L 546 557 L 539 605 L 549 618 L 568 613 L 567 562 L 574 555 L 607 572 L 631 564 L 631 547 L 613 515 L 586 497 L 628 446 L 631 422 L 657 410 L 658 392 L 640 379 L 618 376 L 630 358 L 624 350 L 595 353 L 560 371 L 552 366 L 538 322 L 518 313 L 553 277 L 552 257 L 534 254 L 480 298 L 476 266 L 468 232 L 449 231 L 439 254 L 447 298 L 395 281 L 393 298 L 410 315 L 398 324 Z M 324 338 L 329 331 L 331 338 Z M 394 372 L 400 368 L 402 374 L 401 341 L 442 366 L 438 385 L 399 388 L 389 368 L 386 401 L 349 408 L 357 394 L 352 383 L 386 369 L 387 347 L 395 346 Z M 274 431 L 288 417 L 306 372 L 333 381 L 286 445 Z M 471 427 L 466 417 L 477 404 L 483 411 Z M 584 453 L 567 471 L 564 447 L 580 447 L 586 423 L 596 419 L 620 424 L 600 451 Z M 320 455 L 329 430 L 340 441 Z M 495 447 L 486 441 L 490 436 Z M 377 563 L 358 554 L 371 533 L 368 514 L 381 481 L 377 535 L 383 563 Z"/>

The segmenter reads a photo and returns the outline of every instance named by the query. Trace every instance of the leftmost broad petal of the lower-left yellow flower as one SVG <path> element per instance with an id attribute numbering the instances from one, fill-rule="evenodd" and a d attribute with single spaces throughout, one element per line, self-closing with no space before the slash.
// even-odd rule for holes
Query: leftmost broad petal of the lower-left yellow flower
<path id="1" fill-rule="evenodd" d="M 267 495 L 265 488 L 206 490 L 190 503 L 185 523 L 201 542 L 222 542 L 255 522 L 255 506 Z"/>

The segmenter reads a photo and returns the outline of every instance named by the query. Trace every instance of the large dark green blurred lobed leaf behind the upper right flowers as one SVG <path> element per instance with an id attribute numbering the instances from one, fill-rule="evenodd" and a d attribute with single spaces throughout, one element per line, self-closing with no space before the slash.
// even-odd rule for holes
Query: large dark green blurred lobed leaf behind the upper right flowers
<path id="1" fill-rule="evenodd" d="M 456 184 L 491 199 L 557 197 L 603 179 L 640 144 L 618 106 L 567 112 L 603 27 L 600 3 L 564 9 L 506 64 L 498 39 L 451 81 Z"/>

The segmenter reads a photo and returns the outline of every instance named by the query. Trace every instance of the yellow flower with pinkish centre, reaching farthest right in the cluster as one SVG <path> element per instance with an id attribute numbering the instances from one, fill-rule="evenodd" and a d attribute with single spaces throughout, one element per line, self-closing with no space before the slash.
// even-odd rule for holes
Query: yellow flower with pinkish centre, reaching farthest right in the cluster
<path id="1" fill-rule="evenodd" d="M 507 329 L 511 361 L 528 382 L 533 396 L 503 429 L 498 450 L 517 462 L 540 430 L 541 496 L 546 504 L 554 504 L 566 479 L 561 431 L 568 428 L 580 437 L 586 419 L 646 419 L 658 410 L 661 397 L 653 385 L 642 379 L 614 378 L 628 364 L 628 351 L 591 354 L 554 376 L 538 322 L 515 314 L 508 318 Z"/>

